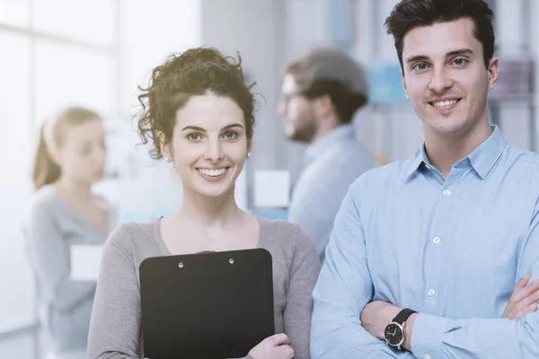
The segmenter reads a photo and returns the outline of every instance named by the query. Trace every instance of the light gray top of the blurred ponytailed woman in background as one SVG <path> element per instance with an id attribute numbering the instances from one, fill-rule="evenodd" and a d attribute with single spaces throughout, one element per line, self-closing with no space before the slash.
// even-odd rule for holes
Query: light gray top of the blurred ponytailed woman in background
<path id="1" fill-rule="evenodd" d="M 111 230 L 116 224 L 116 211 L 110 209 L 109 213 Z M 77 215 L 51 186 L 36 192 L 24 232 L 38 286 L 37 309 L 51 350 L 57 354 L 84 350 L 95 282 L 71 279 L 70 248 L 103 244 L 107 235 Z"/>

